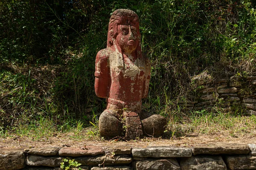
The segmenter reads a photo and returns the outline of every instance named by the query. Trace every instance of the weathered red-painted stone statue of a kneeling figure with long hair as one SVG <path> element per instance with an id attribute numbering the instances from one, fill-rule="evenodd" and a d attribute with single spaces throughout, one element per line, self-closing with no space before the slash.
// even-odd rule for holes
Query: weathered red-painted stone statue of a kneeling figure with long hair
<path id="1" fill-rule="evenodd" d="M 166 119 L 141 111 L 151 66 L 141 53 L 139 17 L 134 11 L 113 12 L 107 48 L 97 53 L 95 64 L 95 92 L 107 100 L 107 108 L 99 117 L 100 135 L 112 138 L 125 132 L 126 139 L 162 135 Z"/>

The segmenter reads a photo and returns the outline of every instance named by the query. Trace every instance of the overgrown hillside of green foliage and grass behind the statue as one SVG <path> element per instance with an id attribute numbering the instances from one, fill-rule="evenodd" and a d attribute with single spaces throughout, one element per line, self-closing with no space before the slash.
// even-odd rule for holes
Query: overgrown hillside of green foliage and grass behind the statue
<path id="1" fill-rule="evenodd" d="M 118 8 L 140 17 L 143 53 L 152 64 L 145 110 L 168 117 L 177 99 L 193 90 L 193 76 L 255 71 L 255 5 L 250 0 L 2 0 L 0 127 L 41 116 L 58 126 L 73 119 L 87 122 L 103 111 L 105 101 L 94 93 L 94 61 L 106 47 L 108 21 Z"/>

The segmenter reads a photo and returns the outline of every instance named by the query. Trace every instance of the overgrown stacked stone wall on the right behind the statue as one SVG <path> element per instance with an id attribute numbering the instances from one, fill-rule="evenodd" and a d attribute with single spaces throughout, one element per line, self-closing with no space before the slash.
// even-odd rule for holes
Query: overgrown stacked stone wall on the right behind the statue
<path id="1" fill-rule="evenodd" d="M 234 111 L 256 115 L 256 75 L 231 76 L 213 82 L 203 82 L 195 94 L 179 101 L 184 110 Z"/>

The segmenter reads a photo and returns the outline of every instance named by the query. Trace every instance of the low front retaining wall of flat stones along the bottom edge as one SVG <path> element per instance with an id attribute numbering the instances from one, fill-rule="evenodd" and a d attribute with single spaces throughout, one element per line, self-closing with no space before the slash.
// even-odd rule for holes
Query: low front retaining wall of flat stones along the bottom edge
<path id="1" fill-rule="evenodd" d="M 80 163 L 81 170 L 253 170 L 256 144 L 6 148 L 0 149 L 0 170 L 61 170 L 64 158 Z"/>

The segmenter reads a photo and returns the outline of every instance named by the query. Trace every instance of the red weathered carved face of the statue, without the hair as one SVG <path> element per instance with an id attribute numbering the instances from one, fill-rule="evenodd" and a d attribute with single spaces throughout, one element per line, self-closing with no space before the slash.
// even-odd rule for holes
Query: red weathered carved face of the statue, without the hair
<path id="1" fill-rule="evenodd" d="M 116 43 L 122 52 L 127 54 L 133 53 L 139 43 L 139 28 L 136 28 L 132 23 L 129 25 L 119 25 L 117 33 Z"/>

